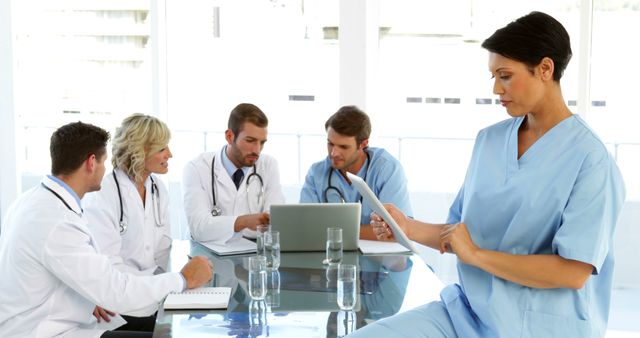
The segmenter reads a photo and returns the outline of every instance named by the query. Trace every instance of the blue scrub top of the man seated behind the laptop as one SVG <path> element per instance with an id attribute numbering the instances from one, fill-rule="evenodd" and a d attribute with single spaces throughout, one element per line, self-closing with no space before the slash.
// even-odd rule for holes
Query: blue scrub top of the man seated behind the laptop
<path id="1" fill-rule="evenodd" d="M 369 159 L 360 168 L 358 176 L 365 179 L 371 190 L 382 203 L 393 203 L 407 216 L 413 217 L 409 192 L 407 191 L 407 178 L 400 162 L 381 148 L 369 147 L 366 150 Z M 328 186 L 328 175 L 331 175 L 331 185 L 339 189 L 346 202 L 360 202 L 360 194 L 351 187 L 347 180 L 333 170 L 331 160 L 327 156 L 324 160 L 314 163 L 300 192 L 300 203 L 323 203 L 324 191 Z M 366 176 L 366 177 L 365 177 Z M 329 202 L 340 202 L 333 189 L 329 190 Z M 365 204 L 362 205 L 360 223 L 371 223 L 373 210 Z"/>

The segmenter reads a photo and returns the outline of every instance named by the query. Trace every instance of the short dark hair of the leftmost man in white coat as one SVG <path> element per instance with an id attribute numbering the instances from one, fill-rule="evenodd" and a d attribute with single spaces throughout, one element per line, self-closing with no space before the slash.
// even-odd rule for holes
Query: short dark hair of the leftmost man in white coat
<path id="1" fill-rule="evenodd" d="M 73 122 L 51 135 L 51 174 L 68 175 L 76 171 L 92 154 L 107 153 L 109 132 L 92 124 Z"/>

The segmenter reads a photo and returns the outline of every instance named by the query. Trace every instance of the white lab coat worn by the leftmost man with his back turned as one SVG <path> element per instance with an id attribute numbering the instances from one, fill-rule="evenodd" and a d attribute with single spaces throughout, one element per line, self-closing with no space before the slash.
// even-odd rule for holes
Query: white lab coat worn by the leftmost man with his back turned
<path id="1" fill-rule="evenodd" d="M 6 215 L 0 236 L 2 337 L 99 337 L 95 304 L 128 312 L 180 291 L 178 273 L 135 276 L 101 255 L 73 196 L 44 178 Z"/>

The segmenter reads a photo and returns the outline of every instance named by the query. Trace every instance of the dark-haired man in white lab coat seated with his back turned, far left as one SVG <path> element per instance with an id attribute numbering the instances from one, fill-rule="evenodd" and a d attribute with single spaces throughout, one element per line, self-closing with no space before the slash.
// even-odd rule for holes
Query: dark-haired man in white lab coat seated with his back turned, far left
<path id="1" fill-rule="evenodd" d="M 8 211 L 0 235 L 0 336 L 144 336 L 97 329 L 94 307 L 132 311 L 211 279 L 202 256 L 180 273 L 135 276 L 100 254 L 80 200 L 100 189 L 108 140 L 82 122 L 60 127 L 51 137 L 52 175 Z"/>

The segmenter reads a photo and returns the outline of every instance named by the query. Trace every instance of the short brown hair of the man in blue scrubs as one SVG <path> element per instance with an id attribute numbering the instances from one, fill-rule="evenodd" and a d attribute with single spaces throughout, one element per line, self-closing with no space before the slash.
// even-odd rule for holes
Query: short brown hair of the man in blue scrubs
<path id="1" fill-rule="evenodd" d="M 331 115 L 325 122 L 324 129 L 335 130 L 338 134 L 355 136 L 356 144 L 360 145 L 362 141 L 371 135 L 371 121 L 369 116 L 356 106 L 344 106 Z"/>

